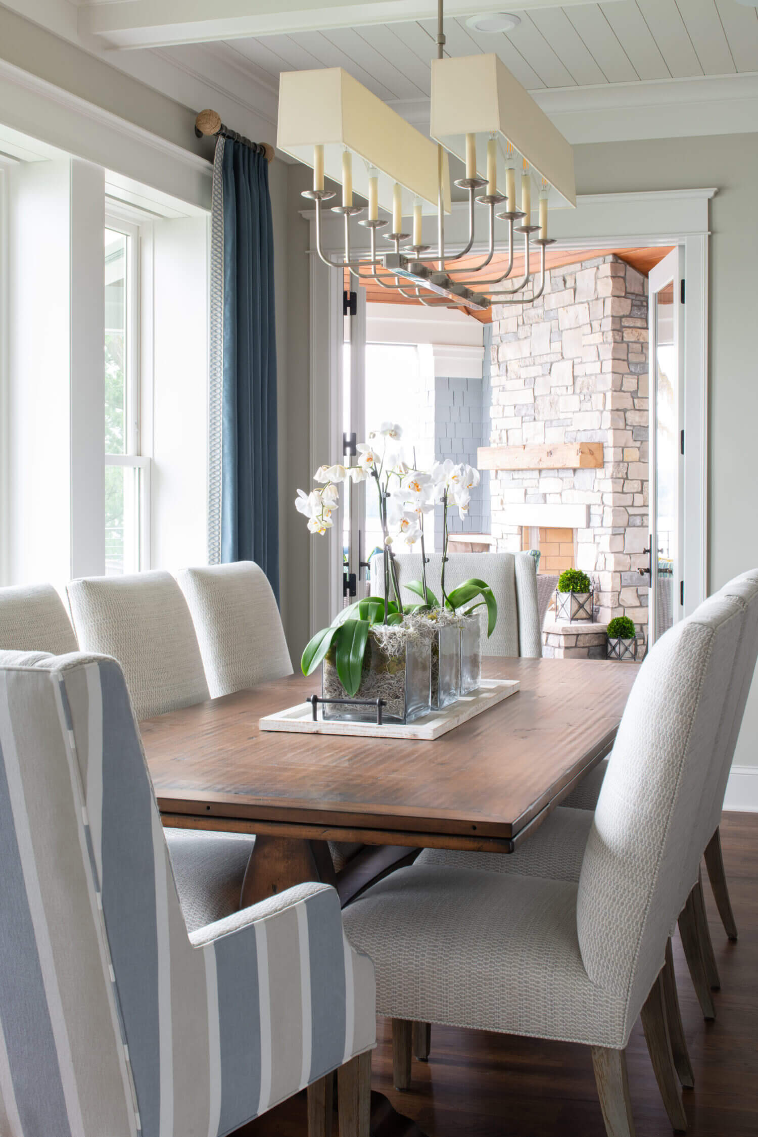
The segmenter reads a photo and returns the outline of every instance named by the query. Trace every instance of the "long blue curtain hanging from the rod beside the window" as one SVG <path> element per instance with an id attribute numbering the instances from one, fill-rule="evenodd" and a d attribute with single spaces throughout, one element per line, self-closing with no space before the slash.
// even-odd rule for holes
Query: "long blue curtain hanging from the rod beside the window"
<path id="1" fill-rule="evenodd" d="M 274 235 L 268 163 L 217 142 L 211 234 L 209 559 L 255 561 L 278 599 Z"/>

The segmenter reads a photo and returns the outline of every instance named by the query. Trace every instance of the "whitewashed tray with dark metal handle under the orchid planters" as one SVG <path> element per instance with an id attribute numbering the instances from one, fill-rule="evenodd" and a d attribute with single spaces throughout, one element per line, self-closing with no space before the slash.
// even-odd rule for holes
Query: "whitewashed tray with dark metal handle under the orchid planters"
<path id="1" fill-rule="evenodd" d="M 259 719 L 258 727 L 260 730 L 283 730 L 295 735 L 358 735 L 364 738 L 418 738 L 432 741 L 515 695 L 519 686 L 517 679 L 483 679 L 477 690 L 463 695 L 444 711 L 430 711 L 423 719 L 405 725 L 385 722 L 377 727 L 375 722 L 325 722 L 323 719 L 314 722 L 310 704 L 299 703 L 295 707 Z"/>

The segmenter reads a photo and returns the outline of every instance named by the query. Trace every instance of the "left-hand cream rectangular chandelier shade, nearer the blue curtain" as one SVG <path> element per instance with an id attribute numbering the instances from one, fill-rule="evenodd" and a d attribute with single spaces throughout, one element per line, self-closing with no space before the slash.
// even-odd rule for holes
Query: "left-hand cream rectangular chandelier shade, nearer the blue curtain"
<path id="1" fill-rule="evenodd" d="M 375 167 L 382 209 L 392 213 L 399 183 L 403 214 L 413 214 L 417 198 L 424 213 L 436 214 L 435 144 L 341 67 L 282 73 L 276 144 L 307 166 L 314 166 L 314 147 L 323 146 L 324 174 L 340 183 L 347 149 L 355 155 L 353 192 L 368 199 L 369 168 Z M 449 213 L 447 158 L 442 193 Z"/>

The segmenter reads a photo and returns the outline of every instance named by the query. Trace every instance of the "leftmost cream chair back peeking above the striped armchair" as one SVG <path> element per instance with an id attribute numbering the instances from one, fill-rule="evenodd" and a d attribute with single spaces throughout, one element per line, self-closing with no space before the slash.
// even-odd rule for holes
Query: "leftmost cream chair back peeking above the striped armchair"
<path id="1" fill-rule="evenodd" d="M 0 588 L 0 649 L 53 655 L 78 650 L 72 622 L 52 584 Z"/>

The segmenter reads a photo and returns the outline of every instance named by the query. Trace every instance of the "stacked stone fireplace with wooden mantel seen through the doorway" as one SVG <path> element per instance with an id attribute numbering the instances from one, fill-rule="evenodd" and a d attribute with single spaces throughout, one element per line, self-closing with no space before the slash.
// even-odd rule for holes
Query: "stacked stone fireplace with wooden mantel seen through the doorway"
<path id="1" fill-rule="evenodd" d="M 493 304 L 490 446 L 527 468 L 493 471 L 501 551 L 541 548 L 595 587 L 595 621 L 648 622 L 648 281 L 615 256 L 552 269 L 531 305 Z M 595 443 L 599 465 L 545 465 L 545 445 Z M 533 448 L 533 450 L 532 450 Z M 534 467 L 530 467 L 530 453 Z M 647 629 L 645 629 L 647 630 Z"/>

